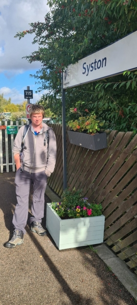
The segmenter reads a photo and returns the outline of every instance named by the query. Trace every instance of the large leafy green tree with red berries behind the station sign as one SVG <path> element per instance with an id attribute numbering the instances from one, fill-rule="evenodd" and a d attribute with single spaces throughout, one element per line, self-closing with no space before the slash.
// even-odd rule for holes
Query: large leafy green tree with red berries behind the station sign
<path id="1" fill-rule="evenodd" d="M 26 59 L 41 63 L 35 79 L 38 91 L 46 90 L 40 103 L 61 116 L 61 77 L 64 67 L 75 64 L 84 56 L 96 52 L 137 30 L 136 0 L 49 0 L 51 11 L 45 22 L 31 23 L 30 29 L 15 37 L 35 33 L 33 44 L 38 51 Z M 66 90 L 66 121 L 74 113 L 88 109 L 105 127 L 121 131 L 137 131 L 136 126 L 136 72 L 127 72 Z M 75 114 L 76 115 L 76 114 Z"/>

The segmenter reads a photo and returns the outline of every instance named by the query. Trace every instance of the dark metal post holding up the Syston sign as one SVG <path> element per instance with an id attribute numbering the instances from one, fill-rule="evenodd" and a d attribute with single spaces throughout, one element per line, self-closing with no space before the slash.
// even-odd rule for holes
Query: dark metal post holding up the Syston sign
<path id="1" fill-rule="evenodd" d="M 67 188 L 67 168 L 66 168 L 65 90 L 63 89 L 63 72 L 61 73 L 61 88 L 62 88 L 63 190 L 65 190 Z"/>

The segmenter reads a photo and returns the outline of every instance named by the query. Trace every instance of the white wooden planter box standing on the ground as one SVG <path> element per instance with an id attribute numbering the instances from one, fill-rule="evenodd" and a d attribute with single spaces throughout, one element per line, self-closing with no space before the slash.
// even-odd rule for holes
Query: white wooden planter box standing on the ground
<path id="1" fill-rule="evenodd" d="M 46 228 L 59 250 L 103 242 L 105 216 L 61 219 L 47 204 Z"/>

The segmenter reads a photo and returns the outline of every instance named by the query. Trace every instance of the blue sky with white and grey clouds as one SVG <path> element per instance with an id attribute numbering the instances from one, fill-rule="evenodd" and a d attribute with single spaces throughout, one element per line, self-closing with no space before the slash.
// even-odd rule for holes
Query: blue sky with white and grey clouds
<path id="1" fill-rule="evenodd" d="M 40 69 L 40 63 L 29 64 L 22 59 L 38 49 L 38 45 L 32 45 L 33 35 L 27 34 L 20 40 L 14 36 L 29 29 L 29 23 L 44 22 L 48 11 L 47 0 L 0 0 L 0 94 L 7 99 L 11 97 L 11 103 L 20 104 L 25 100 L 27 86 L 33 90 L 32 103 L 44 93 L 35 93 L 39 86 L 30 77 Z"/>

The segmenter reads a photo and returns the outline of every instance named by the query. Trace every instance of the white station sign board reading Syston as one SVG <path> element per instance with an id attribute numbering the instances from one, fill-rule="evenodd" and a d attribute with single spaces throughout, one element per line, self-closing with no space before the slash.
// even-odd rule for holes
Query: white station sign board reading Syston
<path id="1" fill-rule="evenodd" d="M 137 69 L 137 31 L 67 67 L 63 89 L 133 69 Z"/>

